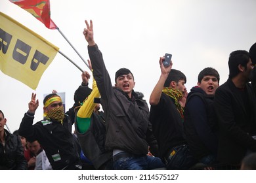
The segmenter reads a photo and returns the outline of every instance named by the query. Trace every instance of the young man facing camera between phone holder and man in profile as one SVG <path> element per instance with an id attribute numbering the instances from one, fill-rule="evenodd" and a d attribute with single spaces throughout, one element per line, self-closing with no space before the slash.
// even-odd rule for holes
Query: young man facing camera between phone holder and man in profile
<path id="1" fill-rule="evenodd" d="M 218 147 L 218 124 L 213 106 L 219 87 L 219 73 L 211 67 L 198 75 L 198 85 L 191 89 L 184 108 L 184 131 L 191 154 L 203 165 L 215 163 Z"/>

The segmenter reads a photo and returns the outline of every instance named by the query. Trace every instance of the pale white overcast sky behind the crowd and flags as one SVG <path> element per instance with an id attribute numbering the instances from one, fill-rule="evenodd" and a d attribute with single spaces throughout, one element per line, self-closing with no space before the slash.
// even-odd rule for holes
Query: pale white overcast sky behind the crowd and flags
<path id="1" fill-rule="evenodd" d="M 255 0 L 51 0 L 51 19 L 85 60 L 87 42 L 84 20 L 93 20 L 95 42 L 114 84 L 117 69 L 127 67 L 135 76 L 135 91 L 148 101 L 160 77 L 159 58 L 173 54 L 173 69 L 187 77 L 187 90 L 197 83 L 205 67 L 214 67 L 221 84 L 228 78 L 228 55 L 249 50 L 256 42 Z M 79 67 L 89 69 L 57 30 L 50 30 L 22 8 L 0 1 L 0 11 L 60 48 Z M 28 110 L 31 93 L 37 93 L 39 108 L 34 122 L 42 119 L 43 95 L 66 92 L 66 108 L 73 105 L 81 84 L 81 71 L 57 54 L 34 91 L 0 72 L 0 109 L 11 132 L 18 129 Z M 91 87 L 92 80 L 89 82 Z"/>

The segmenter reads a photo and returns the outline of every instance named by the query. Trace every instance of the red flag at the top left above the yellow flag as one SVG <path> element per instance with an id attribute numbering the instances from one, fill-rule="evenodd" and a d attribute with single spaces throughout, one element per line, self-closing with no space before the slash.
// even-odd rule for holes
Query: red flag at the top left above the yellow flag
<path id="1" fill-rule="evenodd" d="M 48 29 L 58 29 L 57 25 L 51 20 L 49 0 L 9 0 L 20 8 L 30 12 L 37 20 L 45 24 Z"/>

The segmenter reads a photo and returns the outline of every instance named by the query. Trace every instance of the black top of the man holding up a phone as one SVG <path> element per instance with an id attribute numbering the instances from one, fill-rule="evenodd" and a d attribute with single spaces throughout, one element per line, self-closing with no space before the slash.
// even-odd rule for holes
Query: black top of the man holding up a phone
<path id="1" fill-rule="evenodd" d="M 174 99 L 163 92 L 158 105 L 150 107 L 150 122 L 158 141 L 161 159 L 169 155 L 171 148 L 186 144 L 181 114 Z"/>

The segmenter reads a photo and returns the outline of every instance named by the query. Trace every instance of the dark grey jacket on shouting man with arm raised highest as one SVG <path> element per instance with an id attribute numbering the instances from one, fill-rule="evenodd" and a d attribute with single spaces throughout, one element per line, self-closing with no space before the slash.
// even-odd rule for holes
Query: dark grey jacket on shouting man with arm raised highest
<path id="1" fill-rule="evenodd" d="M 132 99 L 112 87 L 102 54 L 98 46 L 88 46 L 106 119 L 106 148 L 119 149 L 131 154 L 146 155 L 148 143 L 156 145 L 150 129 L 149 109 L 146 101 L 133 92 Z"/>

